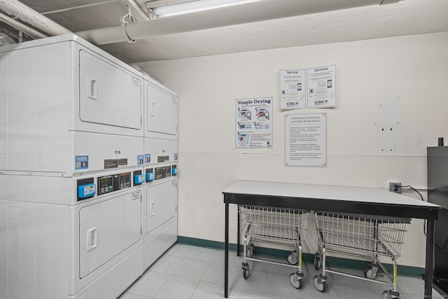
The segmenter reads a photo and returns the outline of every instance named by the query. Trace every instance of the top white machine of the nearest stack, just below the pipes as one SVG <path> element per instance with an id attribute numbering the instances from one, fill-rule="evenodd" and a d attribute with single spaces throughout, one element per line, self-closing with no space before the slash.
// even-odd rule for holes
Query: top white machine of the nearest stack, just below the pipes
<path id="1" fill-rule="evenodd" d="M 0 172 L 143 165 L 144 74 L 73 34 L 0 48 Z"/>

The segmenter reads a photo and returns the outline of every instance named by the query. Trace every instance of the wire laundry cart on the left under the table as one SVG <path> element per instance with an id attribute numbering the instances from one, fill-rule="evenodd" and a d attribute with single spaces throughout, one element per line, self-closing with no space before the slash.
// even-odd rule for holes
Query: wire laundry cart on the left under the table
<path id="1" fill-rule="evenodd" d="M 302 287 L 302 242 L 307 230 L 309 211 L 300 209 L 279 209 L 274 207 L 238 207 L 239 227 L 244 239 L 243 277 L 248 279 L 250 267 L 248 260 L 294 267 L 290 282 L 295 288 Z M 286 257 L 288 263 L 253 257 L 254 242 L 281 244 L 291 247 Z"/>

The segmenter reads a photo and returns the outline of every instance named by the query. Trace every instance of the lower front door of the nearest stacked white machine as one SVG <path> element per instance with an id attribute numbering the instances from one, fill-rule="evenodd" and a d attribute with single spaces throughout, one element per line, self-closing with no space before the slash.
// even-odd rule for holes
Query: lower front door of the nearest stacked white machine
<path id="1" fill-rule="evenodd" d="M 80 278 L 139 242 L 140 219 L 140 190 L 80 209 Z"/>

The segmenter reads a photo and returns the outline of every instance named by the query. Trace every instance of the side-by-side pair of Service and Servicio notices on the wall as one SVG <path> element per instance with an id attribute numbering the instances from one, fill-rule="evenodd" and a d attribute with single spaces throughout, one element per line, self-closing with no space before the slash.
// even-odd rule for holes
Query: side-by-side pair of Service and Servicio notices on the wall
<path id="1" fill-rule="evenodd" d="M 280 109 L 336 105 L 336 65 L 280 70 Z"/>

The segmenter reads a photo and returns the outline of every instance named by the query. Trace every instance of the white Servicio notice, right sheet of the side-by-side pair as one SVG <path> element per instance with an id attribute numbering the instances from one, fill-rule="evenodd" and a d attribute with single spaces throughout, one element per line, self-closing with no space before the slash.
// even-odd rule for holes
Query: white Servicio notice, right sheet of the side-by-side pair
<path id="1" fill-rule="evenodd" d="M 307 69 L 307 107 L 335 107 L 336 65 Z"/>

